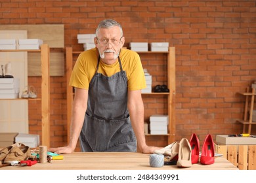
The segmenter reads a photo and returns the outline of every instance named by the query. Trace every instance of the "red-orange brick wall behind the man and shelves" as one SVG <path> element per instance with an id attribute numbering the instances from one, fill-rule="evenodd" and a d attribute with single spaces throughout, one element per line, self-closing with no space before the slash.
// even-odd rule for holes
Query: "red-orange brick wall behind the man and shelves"
<path id="1" fill-rule="evenodd" d="M 190 138 L 191 133 L 197 133 L 201 142 L 208 133 L 214 139 L 216 134 L 242 133 L 242 125 L 236 120 L 243 116 L 244 97 L 237 92 L 244 92 L 256 79 L 255 15 L 255 0 L 0 3 L 0 24 L 64 24 L 65 46 L 74 50 L 82 50 L 76 35 L 95 33 L 104 18 L 123 25 L 127 44 L 166 41 L 175 46 L 177 141 Z M 146 59 L 142 56 L 144 64 Z M 29 78 L 29 82 L 37 86 L 38 79 Z M 51 146 L 66 144 L 65 87 L 65 76 L 51 77 Z M 145 105 L 150 110 L 165 111 L 162 101 L 156 99 L 158 109 L 150 103 Z M 40 134 L 40 105 L 30 105 L 30 133 Z M 147 140 L 149 144 L 166 145 L 165 137 Z"/>

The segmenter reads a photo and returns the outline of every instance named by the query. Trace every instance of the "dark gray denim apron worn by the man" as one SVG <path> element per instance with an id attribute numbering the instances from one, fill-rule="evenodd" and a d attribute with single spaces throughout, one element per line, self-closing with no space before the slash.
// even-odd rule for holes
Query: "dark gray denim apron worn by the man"
<path id="1" fill-rule="evenodd" d="M 110 77 L 98 73 L 89 84 L 85 120 L 80 133 L 83 152 L 136 152 L 137 141 L 127 109 L 127 77 L 118 57 L 120 72 Z"/>

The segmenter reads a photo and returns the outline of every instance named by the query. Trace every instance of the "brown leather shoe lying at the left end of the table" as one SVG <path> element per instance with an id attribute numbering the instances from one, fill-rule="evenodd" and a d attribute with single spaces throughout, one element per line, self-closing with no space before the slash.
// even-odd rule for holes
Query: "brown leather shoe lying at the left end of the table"
<path id="1" fill-rule="evenodd" d="M 5 163 L 11 163 L 11 161 L 22 161 L 28 159 L 30 156 L 29 146 L 14 146 L 5 158 Z"/>

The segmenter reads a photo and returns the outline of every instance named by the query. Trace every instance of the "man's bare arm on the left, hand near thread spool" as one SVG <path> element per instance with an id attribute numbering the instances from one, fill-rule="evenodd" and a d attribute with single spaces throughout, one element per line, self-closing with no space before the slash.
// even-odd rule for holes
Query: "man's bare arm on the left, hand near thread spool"
<path id="1" fill-rule="evenodd" d="M 72 105 L 72 119 L 70 124 L 70 143 L 68 146 L 50 148 L 56 154 L 71 154 L 74 152 L 87 110 L 88 90 L 75 88 L 75 97 Z"/>

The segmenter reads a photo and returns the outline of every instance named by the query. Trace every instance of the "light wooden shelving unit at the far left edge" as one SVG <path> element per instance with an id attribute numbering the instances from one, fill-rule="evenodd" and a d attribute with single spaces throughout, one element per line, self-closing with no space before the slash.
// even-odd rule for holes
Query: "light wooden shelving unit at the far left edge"
<path id="1" fill-rule="evenodd" d="M 50 147 L 50 74 L 49 46 L 42 44 L 40 50 L 0 50 L 0 52 L 40 52 L 41 53 L 41 99 L 0 99 L 0 100 L 41 100 L 42 144 Z"/>

